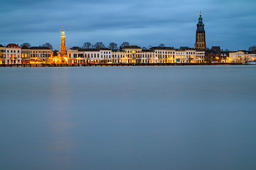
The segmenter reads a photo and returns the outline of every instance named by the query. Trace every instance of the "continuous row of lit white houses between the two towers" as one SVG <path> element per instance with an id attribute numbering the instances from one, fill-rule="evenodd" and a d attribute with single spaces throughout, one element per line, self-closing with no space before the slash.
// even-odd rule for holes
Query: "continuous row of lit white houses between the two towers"
<path id="1" fill-rule="evenodd" d="M 205 52 L 199 49 L 173 47 L 152 47 L 142 49 L 127 45 L 118 50 L 109 48 L 83 49 L 72 47 L 67 50 L 70 64 L 79 63 L 203 63 Z"/>

